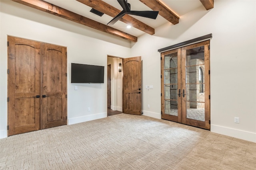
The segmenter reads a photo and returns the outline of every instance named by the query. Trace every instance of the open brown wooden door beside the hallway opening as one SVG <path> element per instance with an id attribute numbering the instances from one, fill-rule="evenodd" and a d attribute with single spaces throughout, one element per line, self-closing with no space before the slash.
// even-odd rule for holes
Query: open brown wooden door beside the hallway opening
<path id="1" fill-rule="evenodd" d="M 124 113 L 141 115 L 141 57 L 124 59 Z"/>

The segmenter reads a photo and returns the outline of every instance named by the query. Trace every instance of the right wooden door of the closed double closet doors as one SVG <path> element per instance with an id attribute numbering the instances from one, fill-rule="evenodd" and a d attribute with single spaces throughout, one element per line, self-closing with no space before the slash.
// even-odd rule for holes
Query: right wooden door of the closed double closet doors
<path id="1" fill-rule="evenodd" d="M 42 129 L 67 124 L 66 47 L 42 43 Z"/>

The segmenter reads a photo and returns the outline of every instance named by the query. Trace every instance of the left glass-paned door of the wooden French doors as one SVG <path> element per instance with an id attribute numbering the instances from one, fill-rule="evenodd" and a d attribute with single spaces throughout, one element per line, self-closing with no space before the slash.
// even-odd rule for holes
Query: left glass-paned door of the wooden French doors
<path id="1" fill-rule="evenodd" d="M 162 53 L 162 119 L 181 123 L 180 49 Z M 163 76 L 164 75 L 164 76 Z M 164 96 L 164 97 L 163 97 Z"/>

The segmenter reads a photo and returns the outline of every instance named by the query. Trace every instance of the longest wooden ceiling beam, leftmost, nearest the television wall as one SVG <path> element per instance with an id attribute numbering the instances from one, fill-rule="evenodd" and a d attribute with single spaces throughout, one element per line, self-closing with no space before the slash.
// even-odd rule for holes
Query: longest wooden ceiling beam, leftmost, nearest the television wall
<path id="1" fill-rule="evenodd" d="M 61 18 L 65 18 L 70 21 L 74 21 L 76 23 L 80 23 L 82 25 L 97 29 L 99 31 L 109 33 L 111 35 L 115 35 L 117 37 L 121 37 L 123 39 L 130 40 L 132 42 L 137 42 L 137 39 L 138 39 L 137 37 L 135 37 L 133 35 L 130 35 L 128 33 L 120 31 L 118 29 L 109 27 L 108 25 L 104 25 L 97 21 L 91 20 L 89 18 L 86 18 L 86 17 L 76 14 L 74 12 L 65 10 L 64 8 L 60 8 L 59 6 L 50 4 L 43 0 L 12 0 L 12 1 L 18 2 L 18 3 L 26 5 L 26 6 L 30 6 L 32 8 L 35 8 L 35 9 L 43 11 L 43 12 L 47 12 L 48 14 L 52 14 L 55 16 L 59 16 Z"/>

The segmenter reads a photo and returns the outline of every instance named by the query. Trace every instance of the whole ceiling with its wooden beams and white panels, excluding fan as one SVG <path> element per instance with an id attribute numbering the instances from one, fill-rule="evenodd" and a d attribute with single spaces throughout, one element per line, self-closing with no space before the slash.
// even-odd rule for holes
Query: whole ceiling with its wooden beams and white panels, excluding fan
<path id="1" fill-rule="evenodd" d="M 205 10 L 214 7 L 214 0 L 128 0 L 131 10 L 159 11 L 156 20 L 126 14 L 114 25 L 106 25 L 122 7 L 117 0 L 13 0 L 40 11 L 65 18 L 99 31 L 103 31 L 132 42 L 143 33 L 154 35 L 154 28 L 165 24 L 178 24 L 179 16 L 200 6 Z M 102 13 L 98 16 L 90 10 L 94 8 Z M 131 25 L 128 29 L 126 26 Z"/>

